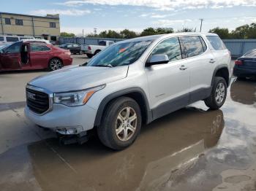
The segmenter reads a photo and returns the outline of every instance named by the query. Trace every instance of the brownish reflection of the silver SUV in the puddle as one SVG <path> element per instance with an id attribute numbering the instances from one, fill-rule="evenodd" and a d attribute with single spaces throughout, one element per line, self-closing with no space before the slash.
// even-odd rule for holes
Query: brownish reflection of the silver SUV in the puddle
<path id="1" fill-rule="evenodd" d="M 121 152 L 97 139 L 64 147 L 48 139 L 48 147 L 45 141 L 30 144 L 29 154 L 44 190 L 154 190 L 179 165 L 214 147 L 223 127 L 221 110 L 188 108 L 147 125 L 138 141 Z"/>

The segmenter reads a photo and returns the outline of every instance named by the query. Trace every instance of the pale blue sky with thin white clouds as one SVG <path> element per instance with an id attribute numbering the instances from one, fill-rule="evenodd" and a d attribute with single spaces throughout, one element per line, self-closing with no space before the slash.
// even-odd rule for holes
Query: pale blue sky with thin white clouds
<path id="1" fill-rule="evenodd" d="M 91 34 L 104 30 L 136 32 L 148 27 L 203 32 L 217 26 L 256 23 L 256 0 L 0 0 L 0 12 L 60 14 L 61 31 Z"/>

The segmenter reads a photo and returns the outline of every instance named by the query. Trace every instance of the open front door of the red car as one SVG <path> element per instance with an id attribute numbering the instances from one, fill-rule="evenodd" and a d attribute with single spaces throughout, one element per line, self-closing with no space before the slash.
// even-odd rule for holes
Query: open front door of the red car
<path id="1" fill-rule="evenodd" d="M 6 49 L 1 55 L 1 66 L 4 70 L 20 69 L 20 48 L 22 42 L 16 42 Z"/>

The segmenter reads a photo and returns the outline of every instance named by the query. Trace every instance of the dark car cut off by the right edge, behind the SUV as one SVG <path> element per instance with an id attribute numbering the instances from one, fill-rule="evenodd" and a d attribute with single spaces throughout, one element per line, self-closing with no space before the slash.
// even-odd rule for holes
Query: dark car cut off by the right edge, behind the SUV
<path id="1" fill-rule="evenodd" d="M 233 74 L 238 78 L 256 77 L 256 49 L 246 52 L 235 61 Z"/>

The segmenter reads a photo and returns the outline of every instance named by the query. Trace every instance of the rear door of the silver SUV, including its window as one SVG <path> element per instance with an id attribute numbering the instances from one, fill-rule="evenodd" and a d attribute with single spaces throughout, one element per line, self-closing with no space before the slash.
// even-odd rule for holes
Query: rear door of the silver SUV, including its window
<path id="1" fill-rule="evenodd" d="M 211 79 L 215 68 L 214 55 L 208 50 L 202 36 L 180 36 L 179 39 L 189 68 L 189 102 L 193 103 L 211 93 Z"/>

